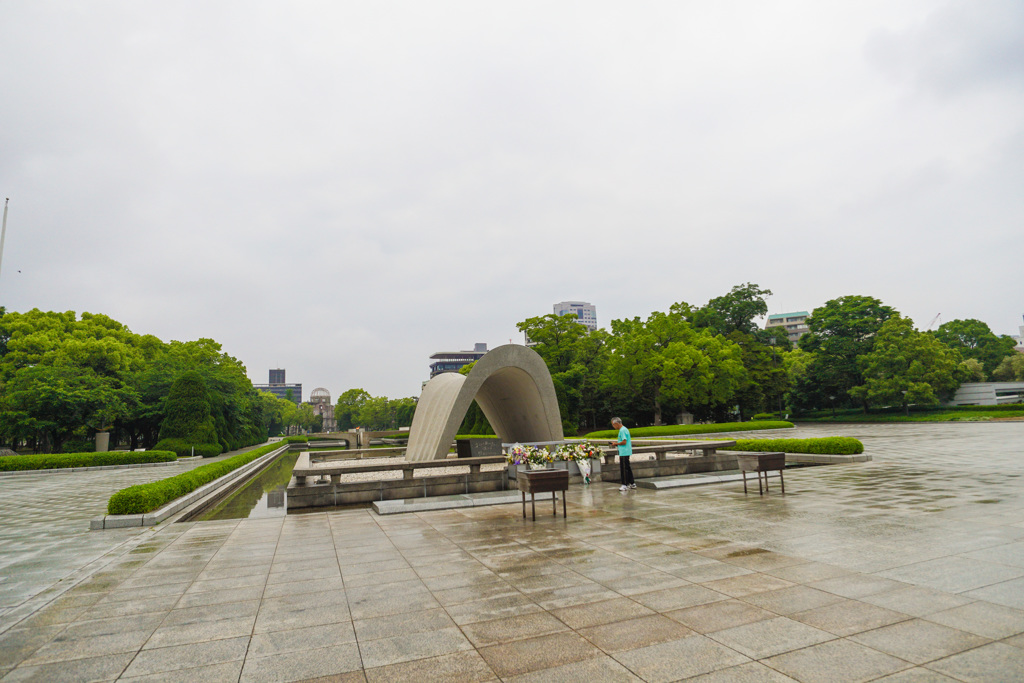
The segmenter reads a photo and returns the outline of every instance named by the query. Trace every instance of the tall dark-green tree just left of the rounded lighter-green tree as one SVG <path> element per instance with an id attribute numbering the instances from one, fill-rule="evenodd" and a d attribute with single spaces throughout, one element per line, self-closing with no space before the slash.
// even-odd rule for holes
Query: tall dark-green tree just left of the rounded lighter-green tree
<path id="1" fill-rule="evenodd" d="M 814 357 L 791 392 L 795 407 L 850 404 L 850 390 L 863 384 L 857 358 L 870 352 L 874 335 L 898 314 L 866 296 L 844 296 L 815 308 L 807 318 L 809 332 L 800 338 L 800 348 Z"/>

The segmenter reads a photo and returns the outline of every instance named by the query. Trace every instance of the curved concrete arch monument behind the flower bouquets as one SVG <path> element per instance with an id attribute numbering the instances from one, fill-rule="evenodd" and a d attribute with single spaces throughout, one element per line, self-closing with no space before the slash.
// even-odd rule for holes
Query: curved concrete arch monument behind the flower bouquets
<path id="1" fill-rule="evenodd" d="M 562 419 L 551 373 L 531 348 L 499 346 L 468 375 L 443 373 L 427 382 L 410 428 L 410 461 L 439 460 L 473 400 L 503 442 L 560 441 Z"/>

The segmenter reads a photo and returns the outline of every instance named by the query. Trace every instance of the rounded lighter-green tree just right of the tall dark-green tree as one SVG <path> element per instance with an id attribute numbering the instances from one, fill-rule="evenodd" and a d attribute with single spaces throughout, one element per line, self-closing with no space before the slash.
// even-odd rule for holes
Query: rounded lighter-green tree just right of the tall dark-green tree
<path id="1" fill-rule="evenodd" d="M 883 324 L 869 353 L 858 358 L 864 384 L 850 395 L 869 405 L 934 405 L 951 396 L 967 373 L 958 351 L 896 315 Z"/>

